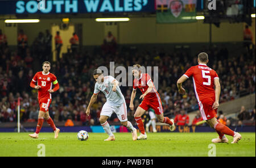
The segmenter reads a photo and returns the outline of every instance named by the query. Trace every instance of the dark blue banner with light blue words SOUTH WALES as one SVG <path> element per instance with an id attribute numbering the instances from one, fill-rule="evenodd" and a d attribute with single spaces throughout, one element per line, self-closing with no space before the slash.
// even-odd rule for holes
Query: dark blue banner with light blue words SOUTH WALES
<path id="1" fill-rule="evenodd" d="M 0 14 L 86 14 L 154 12 L 152 0 L 23 0 L 0 1 Z"/>

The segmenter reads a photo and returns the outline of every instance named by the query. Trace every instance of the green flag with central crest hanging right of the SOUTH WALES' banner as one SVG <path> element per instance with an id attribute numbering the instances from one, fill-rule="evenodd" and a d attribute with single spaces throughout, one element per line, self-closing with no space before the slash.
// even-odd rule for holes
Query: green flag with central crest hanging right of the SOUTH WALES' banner
<path id="1" fill-rule="evenodd" d="M 156 0 L 157 23 L 196 22 L 196 0 Z"/>

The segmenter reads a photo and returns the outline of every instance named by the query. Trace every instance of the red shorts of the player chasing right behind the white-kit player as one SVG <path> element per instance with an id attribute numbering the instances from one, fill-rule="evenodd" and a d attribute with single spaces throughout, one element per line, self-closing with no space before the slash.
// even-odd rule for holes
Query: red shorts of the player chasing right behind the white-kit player
<path id="1" fill-rule="evenodd" d="M 148 110 L 152 108 L 155 111 L 156 115 L 160 115 L 163 113 L 162 102 L 160 96 L 155 96 L 154 99 L 143 99 L 142 103 L 139 104 L 139 107 L 143 108 L 144 110 Z"/>

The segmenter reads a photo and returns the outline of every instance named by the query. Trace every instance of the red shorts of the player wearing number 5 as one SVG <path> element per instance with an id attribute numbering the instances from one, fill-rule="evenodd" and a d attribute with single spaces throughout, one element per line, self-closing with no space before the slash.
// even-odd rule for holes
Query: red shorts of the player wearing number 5
<path id="1" fill-rule="evenodd" d="M 212 98 L 206 98 L 198 103 L 201 116 L 203 117 L 204 120 L 209 120 L 216 116 L 217 109 L 213 110 L 213 103 L 214 100 Z"/>

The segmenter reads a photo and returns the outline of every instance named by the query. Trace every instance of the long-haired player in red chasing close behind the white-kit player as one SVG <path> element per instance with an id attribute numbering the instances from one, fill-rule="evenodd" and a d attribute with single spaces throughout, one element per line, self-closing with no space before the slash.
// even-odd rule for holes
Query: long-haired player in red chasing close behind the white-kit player
<path id="1" fill-rule="evenodd" d="M 147 135 L 144 129 L 144 124 L 141 119 L 141 116 L 146 112 L 149 108 L 155 111 L 156 117 L 161 123 L 166 123 L 170 125 L 170 131 L 174 131 L 175 125 L 174 120 L 169 119 L 168 117 L 163 116 L 163 107 L 160 96 L 155 89 L 153 81 L 150 78 L 150 75 L 147 73 L 142 73 L 141 65 L 136 64 L 133 65 L 133 92 L 131 93 L 130 100 L 130 108 L 134 110 L 133 100 L 136 95 L 136 90 L 139 89 L 142 92 L 142 95 L 139 99 L 143 99 L 142 103 L 139 105 L 137 110 L 135 111 L 134 118 L 139 127 L 139 131 L 141 131 L 141 135 L 138 136 L 138 140 L 146 140 Z"/>

